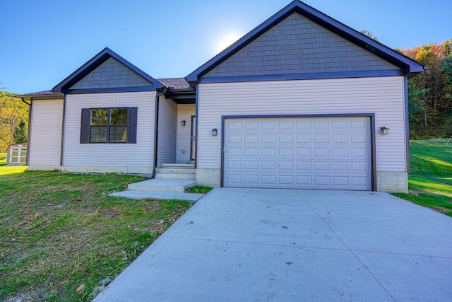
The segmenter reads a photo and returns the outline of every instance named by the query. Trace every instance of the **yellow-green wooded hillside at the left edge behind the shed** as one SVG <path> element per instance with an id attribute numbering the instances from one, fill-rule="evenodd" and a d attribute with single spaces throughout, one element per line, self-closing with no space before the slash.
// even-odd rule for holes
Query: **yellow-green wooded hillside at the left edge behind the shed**
<path id="1" fill-rule="evenodd" d="M 28 105 L 16 94 L 0 91 L 0 152 L 9 144 L 26 143 L 27 128 Z"/>

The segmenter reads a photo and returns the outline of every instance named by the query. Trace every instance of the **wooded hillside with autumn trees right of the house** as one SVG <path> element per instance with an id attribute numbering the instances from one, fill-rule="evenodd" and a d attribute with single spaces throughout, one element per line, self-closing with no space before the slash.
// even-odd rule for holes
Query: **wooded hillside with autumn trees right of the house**
<path id="1" fill-rule="evenodd" d="M 410 138 L 452 135 L 452 39 L 399 50 L 428 69 L 408 81 Z"/>

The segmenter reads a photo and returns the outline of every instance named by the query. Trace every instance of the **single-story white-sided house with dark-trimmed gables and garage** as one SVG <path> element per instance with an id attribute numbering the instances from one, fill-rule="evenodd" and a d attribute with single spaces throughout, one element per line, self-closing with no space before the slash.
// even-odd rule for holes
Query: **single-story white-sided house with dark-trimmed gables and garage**
<path id="1" fill-rule="evenodd" d="M 424 66 L 293 1 L 181 79 L 106 48 L 31 102 L 30 170 L 199 185 L 408 191 L 408 78 Z"/>

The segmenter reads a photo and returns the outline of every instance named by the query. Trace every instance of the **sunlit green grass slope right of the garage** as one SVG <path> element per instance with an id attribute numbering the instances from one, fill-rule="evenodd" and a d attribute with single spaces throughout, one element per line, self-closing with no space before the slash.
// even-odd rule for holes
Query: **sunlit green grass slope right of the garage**
<path id="1" fill-rule="evenodd" d="M 452 216 L 452 144 L 447 139 L 410 141 L 410 194 L 395 194 Z"/>

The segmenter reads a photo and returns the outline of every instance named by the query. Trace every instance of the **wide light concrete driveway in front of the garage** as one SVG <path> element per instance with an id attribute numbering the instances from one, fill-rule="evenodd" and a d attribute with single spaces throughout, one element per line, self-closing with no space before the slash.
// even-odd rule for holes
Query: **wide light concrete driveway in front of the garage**
<path id="1" fill-rule="evenodd" d="M 381 192 L 217 188 L 95 301 L 451 299 L 451 217 Z"/>

